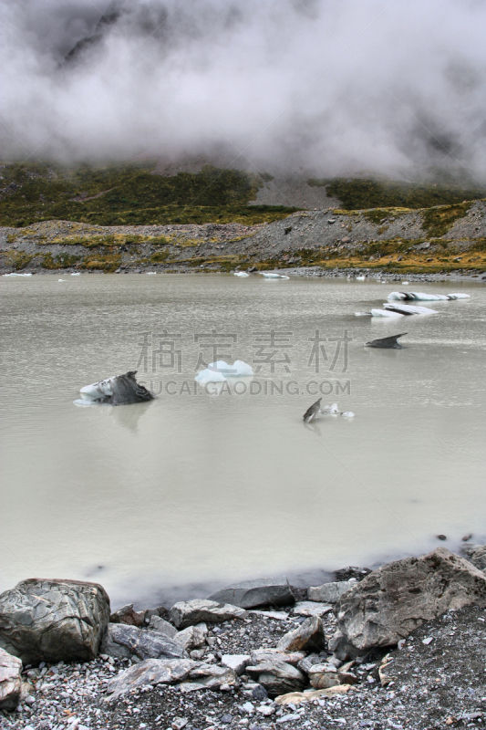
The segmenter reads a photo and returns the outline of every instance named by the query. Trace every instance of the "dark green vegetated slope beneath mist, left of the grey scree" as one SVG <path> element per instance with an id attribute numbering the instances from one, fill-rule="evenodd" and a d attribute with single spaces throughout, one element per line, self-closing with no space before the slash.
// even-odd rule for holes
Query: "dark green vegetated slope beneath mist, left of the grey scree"
<path id="1" fill-rule="evenodd" d="M 11 163 L 2 166 L 0 224 L 22 227 L 66 220 L 99 225 L 270 223 L 296 208 L 252 205 L 268 175 L 222 170 L 164 177 L 154 162 L 76 168 Z"/>

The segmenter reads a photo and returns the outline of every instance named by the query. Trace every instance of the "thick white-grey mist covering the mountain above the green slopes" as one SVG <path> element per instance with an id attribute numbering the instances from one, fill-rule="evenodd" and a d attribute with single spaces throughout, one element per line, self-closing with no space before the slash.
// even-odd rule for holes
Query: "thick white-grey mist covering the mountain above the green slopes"
<path id="1" fill-rule="evenodd" d="M 486 182 L 480 0 L 2 2 L 2 156 Z"/>

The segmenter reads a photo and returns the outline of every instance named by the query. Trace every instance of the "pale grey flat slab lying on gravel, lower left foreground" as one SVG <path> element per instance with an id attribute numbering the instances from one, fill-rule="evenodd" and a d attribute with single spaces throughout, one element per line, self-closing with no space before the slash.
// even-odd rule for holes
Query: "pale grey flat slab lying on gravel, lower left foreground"
<path id="1" fill-rule="evenodd" d="M 107 686 L 107 702 L 112 702 L 130 690 L 146 684 L 172 684 L 189 677 L 198 662 L 191 659 L 146 659 L 120 672 Z"/>

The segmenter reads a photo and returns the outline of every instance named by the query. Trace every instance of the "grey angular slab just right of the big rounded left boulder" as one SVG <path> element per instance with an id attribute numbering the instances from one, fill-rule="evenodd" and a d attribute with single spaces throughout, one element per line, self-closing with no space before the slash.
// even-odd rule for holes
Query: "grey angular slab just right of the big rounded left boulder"
<path id="1" fill-rule="evenodd" d="M 145 659 L 181 659 L 185 656 L 179 641 L 157 631 L 142 631 L 124 623 L 109 623 L 100 652 L 115 659 L 129 659 L 132 654 Z"/>

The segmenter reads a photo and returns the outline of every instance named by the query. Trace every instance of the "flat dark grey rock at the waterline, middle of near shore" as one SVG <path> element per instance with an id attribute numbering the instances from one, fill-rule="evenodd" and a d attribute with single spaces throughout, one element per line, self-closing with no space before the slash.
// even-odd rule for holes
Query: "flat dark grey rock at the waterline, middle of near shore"
<path id="1" fill-rule="evenodd" d="M 242 609 L 256 606 L 289 606 L 295 603 L 295 596 L 285 577 L 278 579 L 261 578 L 233 583 L 209 596 L 209 600 L 231 603 Z"/>

